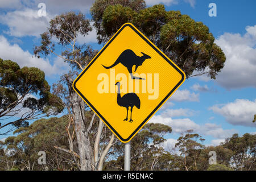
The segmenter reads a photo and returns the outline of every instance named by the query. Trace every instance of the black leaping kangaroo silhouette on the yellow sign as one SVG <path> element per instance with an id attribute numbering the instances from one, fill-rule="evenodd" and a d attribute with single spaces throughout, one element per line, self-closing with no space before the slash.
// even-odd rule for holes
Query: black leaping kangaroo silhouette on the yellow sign
<path id="1" fill-rule="evenodd" d="M 142 55 L 143 56 L 137 56 L 133 51 L 131 51 L 131 49 L 126 49 L 125 51 L 123 51 L 121 53 L 121 55 L 119 55 L 118 59 L 115 61 L 114 64 L 112 64 L 109 67 L 106 67 L 104 65 L 102 65 L 102 66 L 106 69 L 110 69 L 110 68 L 113 68 L 115 65 L 121 63 L 122 65 L 124 65 L 128 69 L 128 71 L 131 75 L 131 78 L 144 80 L 144 78 L 133 76 L 133 66 L 135 65 L 135 69 L 134 69 L 134 72 L 135 72 L 137 70 L 137 68 L 139 66 L 141 66 L 142 63 L 146 59 L 151 58 L 150 56 L 146 55 L 146 53 L 142 52 Z"/>

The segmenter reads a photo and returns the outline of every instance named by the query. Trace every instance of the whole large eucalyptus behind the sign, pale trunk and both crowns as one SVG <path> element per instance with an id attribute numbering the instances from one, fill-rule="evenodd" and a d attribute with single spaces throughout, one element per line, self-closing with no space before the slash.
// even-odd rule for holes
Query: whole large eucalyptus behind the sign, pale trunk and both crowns
<path id="1" fill-rule="evenodd" d="M 215 78 L 224 67 L 225 55 L 214 43 L 209 28 L 179 11 L 166 11 L 163 5 L 146 8 L 143 0 L 97 0 L 91 7 L 91 14 L 99 44 L 106 43 L 123 23 L 131 22 L 183 69 L 187 78 L 204 74 Z M 41 45 L 34 48 L 35 55 L 56 55 L 72 68 L 72 73 L 64 75 L 64 78 L 75 123 L 81 169 L 87 170 L 102 168 L 102 161 L 115 140 L 114 135 L 109 136 L 109 143 L 102 152 L 98 151 L 104 124 L 86 119 L 86 105 L 72 88 L 75 76 L 97 53 L 86 44 L 77 44 L 79 36 L 85 36 L 89 31 L 92 31 L 92 26 L 83 14 L 57 15 L 41 35 Z M 96 124 L 97 135 L 92 143 L 90 134 Z"/>

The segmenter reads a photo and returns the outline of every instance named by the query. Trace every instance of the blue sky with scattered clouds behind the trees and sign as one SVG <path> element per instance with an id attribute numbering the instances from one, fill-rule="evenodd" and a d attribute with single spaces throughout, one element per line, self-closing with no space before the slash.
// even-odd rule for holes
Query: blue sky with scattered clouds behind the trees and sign
<path id="1" fill-rule="evenodd" d="M 39 18 L 38 3 L 46 3 L 47 16 Z M 61 3 L 60 3 L 61 2 Z M 210 17 L 209 3 L 216 3 L 217 16 Z M 92 1 L 7 1 L 0 2 L 0 57 L 11 59 L 21 67 L 39 67 L 46 72 L 49 84 L 56 82 L 68 66 L 54 56 L 36 59 L 32 48 L 40 43 L 39 35 L 54 15 L 70 10 L 82 11 L 88 18 Z M 232 134 L 255 133 L 256 114 L 256 1 L 147 0 L 147 6 L 163 3 L 166 10 L 180 10 L 209 27 L 216 44 L 226 55 L 226 63 L 216 80 L 206 76 L 189 78 L 156 113 L 150 122 L 170 125 L 166 146 L 173 144 L 187 129 L 218 144 Z M 95 49 L 96 32 L 81 38 Z M 1 136 L 6 138 L 6 136 Z"/>

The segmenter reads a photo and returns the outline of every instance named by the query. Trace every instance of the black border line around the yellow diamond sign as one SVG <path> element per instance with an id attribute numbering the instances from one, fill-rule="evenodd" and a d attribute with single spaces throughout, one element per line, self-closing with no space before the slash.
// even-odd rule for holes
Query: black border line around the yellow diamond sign
<path id="1" fill-rule="evenodd" d="M 123 28 L 125 27 L 130 27 L 132 30 L 134 30 L 145 42 L 147 42 L 147 44 L 149 44 L 156 52 L 159 53 L 160 56 L 163 57 L 164 60 L 166 60 L 172 67 L 174 67 L 176 69 L 177 72 L 180 73 L 181 75 L 181 80 L 177 83 L 177 85 L 175 85 L 175 87 L 171 90 L 170 93 L 167 94 L 166 97 L 164 97 L 164 99 L 160 102 L 160 104 L 158 106 L 155 107 L 155 109 L 148 115 L 148 117 L 146 119 L 144 119 L 144 121 L 141 123 L 141 125 L 139 125 L 137 127 L 137 129 L 134 130 L 134 132 L 126 139 L 122 138 L 121 135 L 119 135 L 117 133 L 117 131 L 115 131 L 115 129 L 110 125 L 110 123 L 108 121 L 106 121 L 106 119 L 100 114 L 100 112 L 92 105 L 90 104 L 90 102 L 84 97 L 84 95 L 82 95 L 82 93 L 79 91 L 79 89 L 76 88 L 76 82 L 81 78 L 82 75 L 84 75 L 84 73 L 90 68 L 90 66 L 97 60 L 97 58 L 101 55 L 101 53 L 109 46 L 110 43 L 112 43 L 112 41 L 117 37 L 117 35 L 119 35 L 119 33 L 123 30 Z M 82 71 L 82 73 L 79 75 L 79 77 L 76 78 L 76 80 L 73 82 L 73 88 L 76 90 L 77 93 L 79 93 L 79 95 L 84 98 L 85 102 L 92 108 L 92 110 L 94 110 L 97 115 L 106 123 L 106 125 L 108 125 L 108 127 L 110 127 L 110 129 L 115 133 L 115 135 L 118 136 L 119 139 L 121 139 L 123 142 L 127 142 L 129 141 L 136 133 L 137 131 L 144 125 L 144 123 L 146 123 L 148 121 L 148 119 L 155 113 L 156 110 L 159 109 L 159 107 L 167 100 L 168 97 L 170 97 L 170 95 L 174 92 L 174 90 L 176 90 L 176 88 L 185 80 L 185 75 L 183 72 L 180 71 L 179 68 L 177 68 L 177 66 L 175 64 L 173 64 L 169 59 L 167 59 L 167 57 L 165 55 L 163 55 L 162 52 L 160 52 L 156 46 L 154 44 L 152 44 L 151 42 L 149 42 L 146 38 L 144 38 L 144 36 L 141 34 L 141 32 L 137 31 L 133 26 L 131 26 L 131 24 L 127 23 L 124 24 L 119 30 L 118 32 L 113 36 L 113 38 L 106 44 L 106 46 L 104 48 L 101 49 L 101 51 L 97 54 L 96 57 L 94 57 L 94 59 L 92 61 L 90 61 L 90 63 L 88 64 L 88 66 L 84 69 L 84 71 Z"/>

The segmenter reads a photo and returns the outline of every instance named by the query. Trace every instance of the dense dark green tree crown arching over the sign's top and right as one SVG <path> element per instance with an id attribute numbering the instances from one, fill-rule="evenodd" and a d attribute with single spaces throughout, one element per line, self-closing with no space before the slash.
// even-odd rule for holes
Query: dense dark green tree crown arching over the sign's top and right
<path id="1" fill-rule="evenodd" d="M 143 1 L 96 1 L 92 19 L 99 43 L 106 43 L 122 24 L 139 28 L 158 48 L 174 61 L 187 78 L 207 74 L 215 79 L 226 60 L 214 43 L 209 28 L 180 11 L 166 11 L 164 5 L 145 8 Z M 131 4 L 137 5 L 137 9 Z"/>

